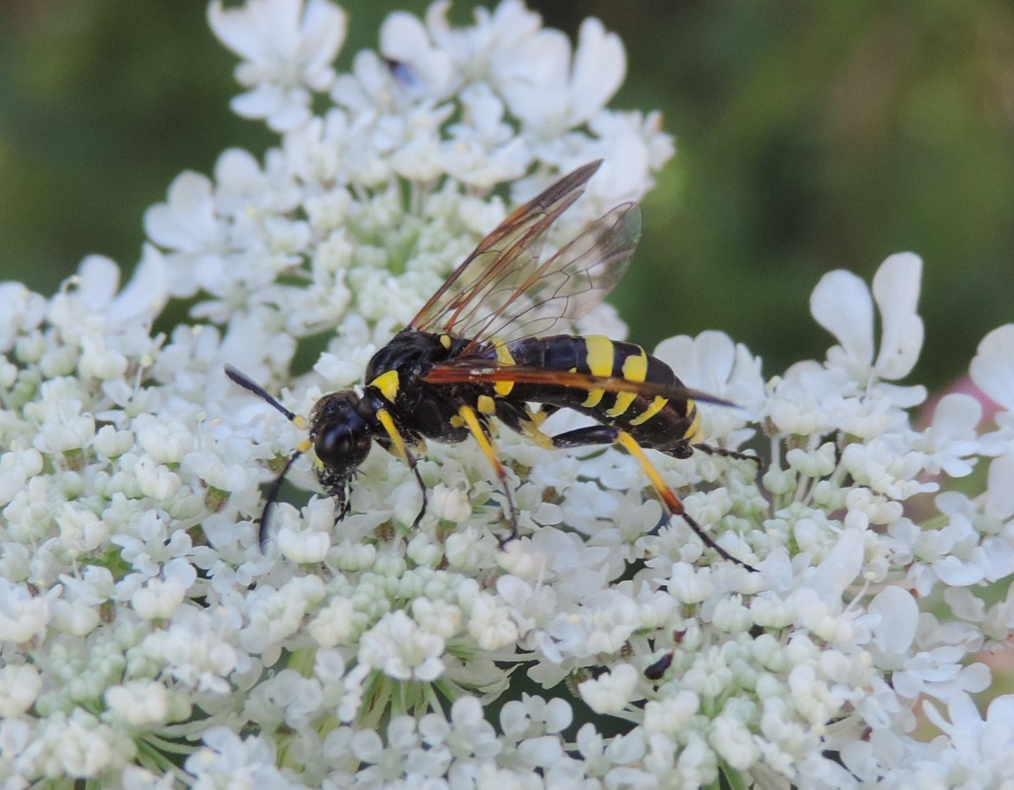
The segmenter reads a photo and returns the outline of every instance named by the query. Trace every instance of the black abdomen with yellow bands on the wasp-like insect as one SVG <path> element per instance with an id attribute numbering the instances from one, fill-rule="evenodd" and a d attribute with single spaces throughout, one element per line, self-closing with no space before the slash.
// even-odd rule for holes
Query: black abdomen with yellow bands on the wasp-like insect
<path id="1" fill-rule="evenodd" d="M 517 365 L 550 370 L 625 378 L 628 381 L 678 386 L 672 369 L 633 343 L 611 341 L 600 335 L 557 335 L 527 338 L 507 344 Z M 698 441 L 699 420 L 693 401 L 670 400 L 636 392 L 605 392 L 545 384 L 513 384 L 501 397 L 574 409 L 598 422 L 623 426 L 640 443 L 667 450 Z"/>

